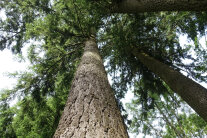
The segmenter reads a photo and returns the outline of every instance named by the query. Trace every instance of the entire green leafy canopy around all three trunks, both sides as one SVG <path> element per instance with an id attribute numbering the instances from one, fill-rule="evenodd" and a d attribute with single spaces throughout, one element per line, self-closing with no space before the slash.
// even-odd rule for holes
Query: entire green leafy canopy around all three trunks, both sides
<path id="1" fill-rule="evenodd" d="M 206 122 L 192 112 L 180 113 L 189 107 L 132 53 L 136 48 L 187 73 L 189 78 L 206 82 L 207 53 L 199 39 L 206 36 L 207 13 L 111 13 L 108 9 L 114 2 L 117 1 L 0 2 L 0 10 L 6 15 L 0 20 L 0 49 L 21 54 L 21 48 L 29 45 L 27 58 L 31 63 L 28 71 L 11 74 L 19 78 L 12 90 L 0 93 L 1 137 L 53 136 L 84 41 L 91 35 L 96 36 L 107 62 L 113 90 L 130 130 L 166 137 L 199 137 L 207 133 Z M 179 35 L 187 35 L 193 44 L 181 46 Z M 131 119 L 127 119 L 120 102 L 129 87 L 135 95 L 128 104 Z M 18 102 L 11 107 L 14 97 Z M 159 118 L 165 130 L 153 126 L 152 122 Z"/>

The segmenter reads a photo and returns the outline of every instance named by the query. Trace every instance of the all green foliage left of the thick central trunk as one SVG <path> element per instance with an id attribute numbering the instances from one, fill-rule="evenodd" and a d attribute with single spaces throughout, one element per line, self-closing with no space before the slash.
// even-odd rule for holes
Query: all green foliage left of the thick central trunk
<path id="1" fill-rule="evenodd" d="M 16 8 L 29 10 L 32 5 L 27 5 L 28 7 L 23 5 L 28 4 L 27 2 L 29 1 L 12 4 Z M 18 77 L 19 80 L 7 97 L 12 95 L 18 97 L 18 103 L 14 111 L 8 106 L 11 101 L 9 98 L 6 98 L 7 101 L 2 105 L 0 125 L 4 127 L 0 137 L 53 136 L 82 55 L 83 42 L 96 32 L 102 22 L 98 19 L 102 18 L 101 16 L 87 10 L 92 5 L 83 7 L 86 5 L 84 1 L 53 1 L 52 6 L 45 5 L 48 11 L 43 8 L 46 4 L 44 2 L 49 3 L 49 1 L 32 1 L 33 6 L 38 8 L 31 13 L 31 20 L 30 17 L 26 18 L 29 14 L 27 11 L 17 12 L 18 16 L 25 16 L 25 20 L 16 21 L 24 24 L 22 38 L 25 41 L 18 46 L 12 44 L 8 46 L 20 49 L 24 42 L 28 41 L 30 45 L 28 59 L 31 66 L 27 72 L 11 75 Z M 5 7 L 12 5 L 3 4 Z M 40 6 L 42 4 L 43 7 Z M 12 12 L 12 8 L 5 10 L 6 12 L 11 10 L 12 16 L 16 14 Z M 10 24 L 8 19 L 10 17 L 7 15 L 3 28 Z M 15 27 L 17 25 L 10 28 Z M 9 30 L 5 30 L 5 33 L 9 33 Z M 2 37 L 9 39 L 9 35 Z M 4 43 L 2 49 L 8 46 Z M 3 95 L 5 94 L 3 92 Z"/>

